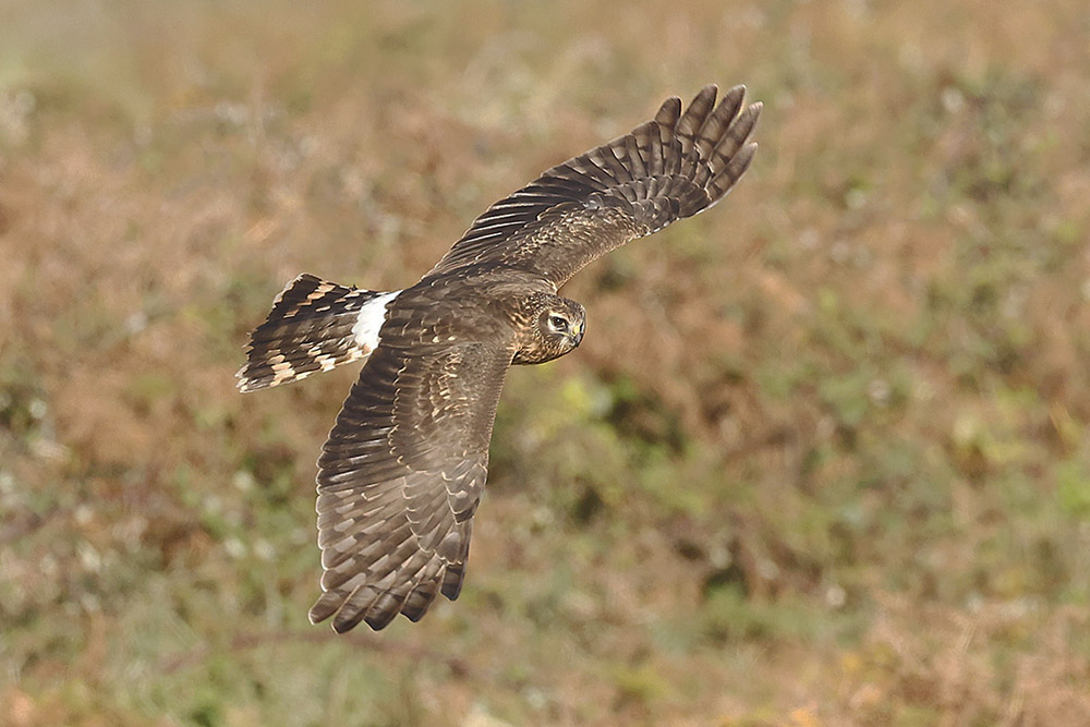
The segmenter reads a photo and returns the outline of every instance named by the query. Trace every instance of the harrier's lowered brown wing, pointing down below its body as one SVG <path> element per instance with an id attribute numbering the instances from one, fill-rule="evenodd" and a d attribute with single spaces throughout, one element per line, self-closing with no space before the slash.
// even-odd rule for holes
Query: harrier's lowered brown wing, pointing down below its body
<path id="1" fill-rule="evenodd" d="M 458 597 L 511 354 L 385 341 L 371 354 L 318 459 L 313 622 L 377 630 Z"/>

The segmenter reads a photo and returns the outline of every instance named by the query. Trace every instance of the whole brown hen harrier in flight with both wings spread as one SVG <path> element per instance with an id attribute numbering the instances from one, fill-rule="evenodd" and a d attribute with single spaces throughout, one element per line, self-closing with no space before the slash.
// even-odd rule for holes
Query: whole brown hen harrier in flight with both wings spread
<path id="1" fill-rule="evenodd" d="M 557 290 L 629 240 L 715 205 L 746 172 L 761 104 L 668 98 L 632 133 L 553 167 L 389 293 L 292 280 L 251 336 L 255 391 L 366 359 L 318 459 L 322 596 L 311 621 L 416 621 L 462 587 L 488 441 L 512 364 L 569 353 L 585 313 Z"/>

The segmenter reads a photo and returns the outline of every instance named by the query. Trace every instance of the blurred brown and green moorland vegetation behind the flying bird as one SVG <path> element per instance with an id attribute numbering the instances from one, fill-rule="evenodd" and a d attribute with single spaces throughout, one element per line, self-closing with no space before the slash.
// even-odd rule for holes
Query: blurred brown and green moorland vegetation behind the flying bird
<path id="1" fill-rule="evenodd" d="M 1088 78 L 1082 0 L 3 3 L 0 722 L 1090 723 Z M 753 167 L 565 289 L 461 598 L 310 626 L 274 295 L 707 82 Z"/>

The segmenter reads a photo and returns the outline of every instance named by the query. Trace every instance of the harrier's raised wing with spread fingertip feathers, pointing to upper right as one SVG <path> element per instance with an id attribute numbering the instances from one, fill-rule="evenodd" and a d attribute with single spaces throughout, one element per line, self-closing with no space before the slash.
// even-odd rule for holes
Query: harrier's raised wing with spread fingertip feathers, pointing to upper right
<path id="1" fill-rule="evenodd" d="M 707 209 L 749 168 L 761 104 L 736 86 L 715 106 L 705 86 L 681 113 L 668 98 L 630 134 L 553 167 L 479 217 L 429 276 L 479 265 L 564 284 L 630 240 Z"/>

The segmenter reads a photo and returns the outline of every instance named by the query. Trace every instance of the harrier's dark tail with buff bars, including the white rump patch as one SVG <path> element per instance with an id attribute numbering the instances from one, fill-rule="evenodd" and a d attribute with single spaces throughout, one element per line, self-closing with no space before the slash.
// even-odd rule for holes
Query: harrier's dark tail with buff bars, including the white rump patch
<path id="1" fill-rule="evenodd" d="M 368 355 L 392 295 L 299 276 L 251 334 L 239 389 L 257 391 Z"/>

